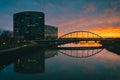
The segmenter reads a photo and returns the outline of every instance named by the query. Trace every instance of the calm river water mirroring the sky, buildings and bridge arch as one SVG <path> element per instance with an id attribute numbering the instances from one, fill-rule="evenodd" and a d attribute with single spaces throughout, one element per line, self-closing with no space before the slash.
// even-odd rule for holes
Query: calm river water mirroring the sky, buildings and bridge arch
<path id="1" fill-rule="evenodd" d="M 106 49 L 22 53 L 0 57 L 0 80 L 120 80 L 120 56 Z"/>

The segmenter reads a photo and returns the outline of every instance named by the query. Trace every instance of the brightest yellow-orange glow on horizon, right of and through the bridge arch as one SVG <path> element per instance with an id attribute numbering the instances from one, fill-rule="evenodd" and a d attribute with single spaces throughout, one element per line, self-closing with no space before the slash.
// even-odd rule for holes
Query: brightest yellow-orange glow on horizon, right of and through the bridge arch
<path id="1" fill-rule="evenodd" d="M 99 27 L 99 28 L 93 28 L 88 30 L 92 33 L 98 34 L 99 36 L 103 37 L 103 38 L 120 38 L 120 27 Z M 58 37 L 62 36 L 64 34 L 58 34 Z M 87 38 L 87 34 L 84 33 L 83 34 L 84 38 Z M 78 36 L 76 36 L 76 33 L 72 34 L 73 38 L 76 37 L 83 37 L 82 34 L 78 34 Z M 71 37 L 71 36 L 66 36 L 67 38 Z M 89 35 L 89 38 L 92 37 L 92 35 Z M 95 37 L 95 36 L 94 36 Z"/>

